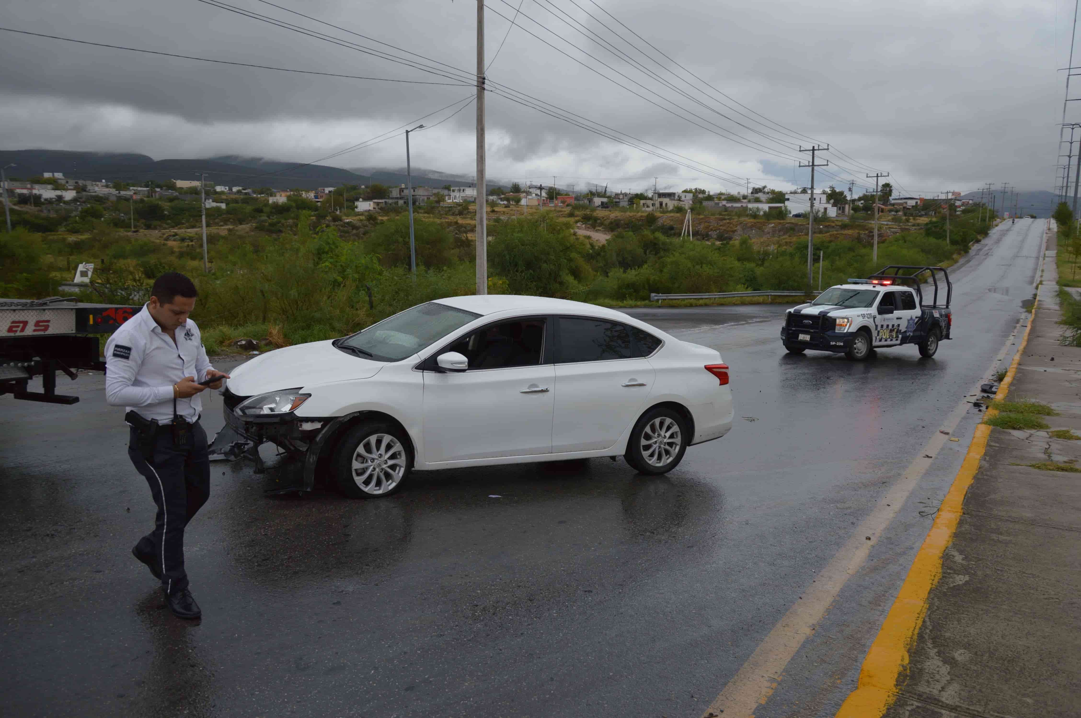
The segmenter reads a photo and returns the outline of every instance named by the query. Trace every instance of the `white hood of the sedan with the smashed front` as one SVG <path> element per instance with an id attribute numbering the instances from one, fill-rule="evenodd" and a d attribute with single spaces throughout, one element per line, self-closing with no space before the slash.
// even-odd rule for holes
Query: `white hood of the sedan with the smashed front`
<path id="1" fill-rule="evenodd" d="M 334 348 L 331 341 L 285 347 L 241 364 L 226 382 L 238 396 L 295 387 L 311 387 L 350 379 L 368 379 L 386 364 L 353 356 Z"/>

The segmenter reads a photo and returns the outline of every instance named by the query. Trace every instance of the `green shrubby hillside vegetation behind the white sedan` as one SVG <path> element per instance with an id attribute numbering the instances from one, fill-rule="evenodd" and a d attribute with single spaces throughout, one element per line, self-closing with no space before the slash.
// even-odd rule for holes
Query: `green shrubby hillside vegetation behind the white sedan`
<path id="1" fill-rule="evenodd" d="M 132 233 L 117 227 L 115 217 L 83 212 L 64 220 L 68 231 L 57 231 L 37 228 L 34 215 L 18 212 L 19 228 L 0 234 L 0 296 L 56 295 L 79 262 L 92 261 L 86 299 L 142 302 L 156 276 L 181 271 L 199 287 L 192 316 L 216 353 L 238 338 L 284 346 L 342 336 L 418 302 L 473 293 L 471 205 L 417 214 L 415 282 L 404 213 L 343 220 L 292 199 L 235 206 L 217 211 L 228 223 L 209 234 L 210 273 L 203 272 L 196 230 Z M 186 220 L 168 217 L 169 223 Z M 619 306 L 645 302 L 651 292 L 806 288 L 805 221 L 707 215 L 696 220 L 690 241 L 677 236 L 680 220 L 652 213 L 495 212 L 489 221 L 489 292 Z M 612 234 L 605 242 L 587 240 L 575 233 L 577 222 Z M 872 262 L 869 226 L 823 223 L 815 254 L 824 254 L 824 286 L 890 263 L 947 262 L 989 226 L 974 212 L 962 213 L 951 218 L 950 244 L 942 219 L 898 229 L 907 228 L 895 227 L 889 238 L 883 230 Z"/>

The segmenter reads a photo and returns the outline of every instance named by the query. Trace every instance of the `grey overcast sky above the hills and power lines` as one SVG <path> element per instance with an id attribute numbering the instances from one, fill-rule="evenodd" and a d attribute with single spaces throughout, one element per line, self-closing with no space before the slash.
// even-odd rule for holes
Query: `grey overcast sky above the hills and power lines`
<path id="1" fill-rule="evenodd" d="M 449 77 L 201 0 L 6 0 L 0 26 L 450 86 L 230 67 L 0 32 L 0 148 L 308 162 L 473 94 L 469 80 L 459 80 L 476 70 L 472 0 L 273 0 L 343 29 L 259 0 L 222 1 L 411 57 L 373 40 L 382 41 L 429 58 L 412 56 Z M 809 181 L 806 170 L 795 168 L 793 158 L 810 159 L 798 146 L 817 140 L 844 153 L 819 154 L 830 162 L 822 173 L 833 176 L 818 173 L 818 187 L 846 189 L 858 178 L 858 193 L 873 182 L 865 178 L 868 167 L 890 172 L 898 193 L 924 195 L 988 181 L 1020 189 L 1055 182 L 1064 97 L 1056 68 L 1067 64 L 1073 15 L 1065 0 L 522 0 L 520 27 L 499 16 L 513 17 L 519 0 L 488 2 L 489 78 L 499 83 L 493 89 L 525 93 L 553 113 L 551 106 L 662 155 L 490 92 L 490 177 L 548 185 L 555 175 L 560 187 L 636 190 L 652 187 L 654 176 L 663 189 L 710 190 L 749 177 L 751 185 L 789 188 Z M 463 105 L 423 122 L 435 124 Z M 1070 119 L 1081 120 L 1081 108 Z M 470 104 L 412 135 L 414 166 L 472 175 L 475 123 Z M 325 164 L 401 167 L 404 141 L 395 137 Z"/>

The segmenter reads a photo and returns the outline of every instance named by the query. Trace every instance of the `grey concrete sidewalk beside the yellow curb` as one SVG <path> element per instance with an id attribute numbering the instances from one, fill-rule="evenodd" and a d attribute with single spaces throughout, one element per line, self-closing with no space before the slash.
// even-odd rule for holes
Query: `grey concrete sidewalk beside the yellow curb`
<path id="1" fill-rule="evenodd" d="M 1058 343 L 1054 236 L 1009 399 L 1081 434 L 1081 349 Z M 993 429 L 891 718 L 1081 715 L 1081 441 Z"/>

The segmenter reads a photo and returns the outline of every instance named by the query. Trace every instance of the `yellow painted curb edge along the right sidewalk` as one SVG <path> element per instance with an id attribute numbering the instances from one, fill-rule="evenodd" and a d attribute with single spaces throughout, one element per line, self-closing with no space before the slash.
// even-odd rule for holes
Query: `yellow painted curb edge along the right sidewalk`
<path id="1" fill-rule="evenodd" d="M 1004 399 L 1010 391 L 1010 384 L 1017 374 L 1017 365 L 1020 364 L 1022 352 L 1028 343 L 1028 335 L 1032 330 L 1035 321 L 1036 304 L 1032 306 L 1032 315 L 1025 329 L 1025 337 L 1017 347 L 1017 353 L 995 395 L 998 401 Z M 993 417 L 997 414 L 998 411 L 989 408 L 985 417 Z M 931 525 L 931 530 L 927 531 L 911 568 L 908 569 L 908 575 L 900 585 L 900 591 L 882 623 L 882 628 L 867 651 L 864 665 L 859 669 L 856 690 L 849 693 L 849 697 L 841 704 L 837 718 L 881 718 L 896 700 L 897 678 L 902 672 L 908 669 L 908 649 L 916 642 L 916 636 L 923 623 L 923 615 L 927 610 L 927 595 L 942 577 L 943 553 L 953 540 L 958 521 L 961 519 L 964 495 L 979 469 L 979 460 L 987 449 L 987 438 L 990 433 L 991 428 L 988 424 L 980 423 L 976 426 L 961 469 L 938 507 L 934 524 Z"/>

